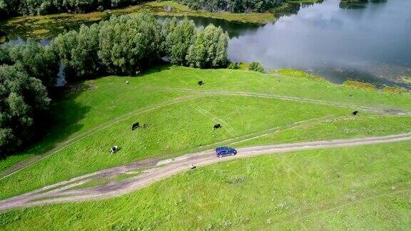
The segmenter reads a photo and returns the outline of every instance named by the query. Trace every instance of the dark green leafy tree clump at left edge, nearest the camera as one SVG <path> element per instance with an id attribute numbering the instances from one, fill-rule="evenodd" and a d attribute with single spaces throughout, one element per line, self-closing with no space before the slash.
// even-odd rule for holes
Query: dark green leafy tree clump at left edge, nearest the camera
<path id="1" fill-rule="evenodd" d="M 0 66 L 0 156 L 30 140 L 36 116 L 50 103 L 46 88 L 20 63 Z"/>

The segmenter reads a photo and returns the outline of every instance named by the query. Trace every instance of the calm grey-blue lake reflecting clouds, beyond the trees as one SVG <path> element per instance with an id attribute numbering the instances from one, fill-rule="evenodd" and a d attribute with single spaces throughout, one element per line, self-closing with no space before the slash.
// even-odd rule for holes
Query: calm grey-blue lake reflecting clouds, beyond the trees
<path id="1" fill-rule="evenodd" d="M 267 70 L 301 69 L 335 83 L 353 79 L 411 87 L 402 81 L 411 79 L 411 1 L 341 6 L 340 0 L 325 0 L 295 5 L 292 11 L 265 26 L 191 19 L 197 26 L 213 23 L 228 31 L 231 61 L 260 61 Z"/>

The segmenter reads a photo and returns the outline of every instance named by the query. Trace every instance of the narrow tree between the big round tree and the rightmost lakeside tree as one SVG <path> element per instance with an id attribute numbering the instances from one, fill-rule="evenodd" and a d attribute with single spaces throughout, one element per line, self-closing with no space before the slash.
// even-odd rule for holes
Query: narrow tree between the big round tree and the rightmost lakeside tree
<path id="1" fill-rule="evenodd" d="M 170 33 L 166 39 L 166 49 L 171 58 L 171 63 L 186 66 L 188 48 L 190 48 L 196 35 L 194 21 L 185 18 L 175 27 L 171 24 L 168 31 Z"/>

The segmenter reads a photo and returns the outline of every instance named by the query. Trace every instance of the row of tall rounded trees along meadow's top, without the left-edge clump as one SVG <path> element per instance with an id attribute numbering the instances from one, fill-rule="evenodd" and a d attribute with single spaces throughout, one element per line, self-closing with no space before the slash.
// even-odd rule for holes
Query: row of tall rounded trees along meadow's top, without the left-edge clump
<path id="1" fill-rule="evenodd" d="M 227 47 L 228 34 L 220 27 L 210 24 L 197 30 L 188 19 L 168 19 L 161 25 L 151 14 L 113 16 L 100 24 L 81 26 L 78 32 L 60 34 L 53 44 L 68 81 L 103 73 L 131 75 L 149 68 L 161 56 L 182 66 L 225 67 Z"/>

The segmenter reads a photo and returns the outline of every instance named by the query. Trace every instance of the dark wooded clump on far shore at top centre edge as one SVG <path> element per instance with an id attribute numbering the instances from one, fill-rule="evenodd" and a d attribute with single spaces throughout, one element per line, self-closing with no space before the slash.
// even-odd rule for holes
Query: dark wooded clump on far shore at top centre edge
<path id="1" fill-rule="evenodd" d="M 191 9 L 230 11 L 234 13 L 263 12 L 280 6 L 284 0 L 178 0 Z"/>

